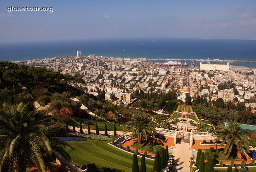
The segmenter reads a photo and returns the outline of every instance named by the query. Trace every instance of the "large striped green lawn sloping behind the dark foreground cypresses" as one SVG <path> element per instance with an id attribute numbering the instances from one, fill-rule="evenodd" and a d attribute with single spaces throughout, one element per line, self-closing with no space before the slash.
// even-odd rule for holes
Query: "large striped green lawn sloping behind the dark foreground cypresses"
<path id="1" fill-rule="evenodd" d="M 87 140 L 68 142 L 74 151 L 67 147 L 72 163 L 76 166 L 88 165 L 88 172 L 131 172 L 132 154 L 108 145 L 105 141 Z M 138 156 L 139 166 L 141 158 Z M 153 170 L 154 161 L 146 159 L 147 171 Z M 110 170 L 108 170 L 110 168 Z"/>

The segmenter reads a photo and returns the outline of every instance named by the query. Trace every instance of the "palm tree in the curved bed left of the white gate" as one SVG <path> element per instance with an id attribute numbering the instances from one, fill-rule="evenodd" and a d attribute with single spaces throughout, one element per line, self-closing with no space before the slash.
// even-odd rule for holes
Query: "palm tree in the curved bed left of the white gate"
<path id="1" fill-rule="evenodd" d="M 149 115 L 134 115 L 130 121 L 128 121 L 124 128 L 124 133 L 132 132 L 131 138 L 134 135 L 138 137 L 138 144 L 142 144 L 141 140 L 144 137 L 147 140 L 147 133 L 153 134 L 156 132 L 152 118 Z"/>

